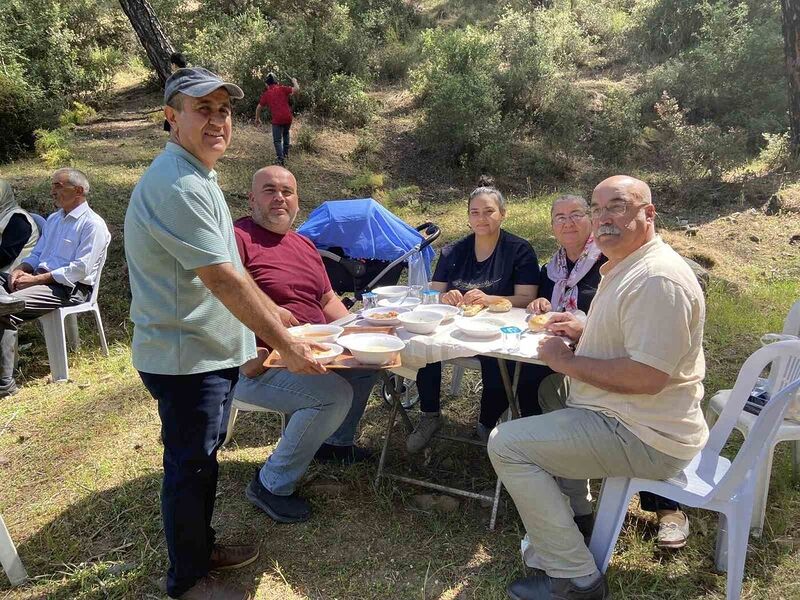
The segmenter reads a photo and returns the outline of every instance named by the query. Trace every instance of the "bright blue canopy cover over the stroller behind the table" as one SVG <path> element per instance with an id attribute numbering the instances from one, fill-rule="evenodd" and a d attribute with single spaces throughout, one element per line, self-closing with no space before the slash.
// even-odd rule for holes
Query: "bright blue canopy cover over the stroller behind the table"
<path id="1" fill-rule="evenodd" d="M 391 262 L 408 253 L 425 238 L 416 229 L 372 198 L 326 200 L 297 230 L 317 248 L 338 247 L 350 258 Z M 431 272 L 434 251 L 422 251 L 425 270 Z"/>

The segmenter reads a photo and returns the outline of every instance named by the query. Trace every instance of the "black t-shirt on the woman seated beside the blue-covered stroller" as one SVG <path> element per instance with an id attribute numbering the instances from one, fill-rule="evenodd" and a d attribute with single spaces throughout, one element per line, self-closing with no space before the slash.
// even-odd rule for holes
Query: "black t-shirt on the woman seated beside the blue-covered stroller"
<path id="1" fill-rule="evenodd" d="M 490 296 L 513 296 L 515 285 L 538 285 L 539 262 L 529 242 L 505 230 L 492 255 L 475 258 L 475 234 L 442 248 L 433 281 L 447 289 L 467 292 L 478 288 Z"/>

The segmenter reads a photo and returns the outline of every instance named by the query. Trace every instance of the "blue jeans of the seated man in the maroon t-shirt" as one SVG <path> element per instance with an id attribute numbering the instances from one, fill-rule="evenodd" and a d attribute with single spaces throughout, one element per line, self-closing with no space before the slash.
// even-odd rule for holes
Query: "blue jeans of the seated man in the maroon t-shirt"
<path id="1" fill-rule="evenodd" d="M 291 417 L 261 467 L 261 484 L 273 494 L 288 496 L 323 442 L 352 445 L 376 379 L 377 371 L 367 370 L 295 375 L 269 369 L 254 378 L 240 375 L 238 400 Z"/>

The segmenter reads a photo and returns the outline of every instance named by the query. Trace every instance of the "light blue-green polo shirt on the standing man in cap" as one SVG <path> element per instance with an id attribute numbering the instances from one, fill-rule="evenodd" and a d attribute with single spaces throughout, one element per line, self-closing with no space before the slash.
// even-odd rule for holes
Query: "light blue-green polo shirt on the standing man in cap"
<path id="1" fill-rule="evenodd" d="M 167 143 L 133 189 L 125 256 L 137 370 L 205 373 L 256 355 L 253 333 L 194 271 L 221 263 L 244 269 L 216 172 L 177 144 Z"/>

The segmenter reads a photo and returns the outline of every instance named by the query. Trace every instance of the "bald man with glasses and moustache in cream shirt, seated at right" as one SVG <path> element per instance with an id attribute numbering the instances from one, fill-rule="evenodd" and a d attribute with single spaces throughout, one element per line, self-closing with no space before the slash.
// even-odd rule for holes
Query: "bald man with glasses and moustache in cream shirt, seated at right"
<path id="1" fill-rule="evenodd" d="M 656 235 L 644 182 L 606 179 L 589 210 L 608 257 L 603 279 L 585 327 L 569 313 L 551 319 L 553 333 L 578 341 L 575 351 L 555 337 L 539 347 L 571 382 L 566 408 L 504 423 L 489 440 L 534 550 L 526 562 L 544 571 L 513 582 L 513 600 L 610 597 L 570 496 L 585 497 L 588 478 L 672 477 L 708 438 L 700 410 L 705 303 L 694 273 Z"/>

